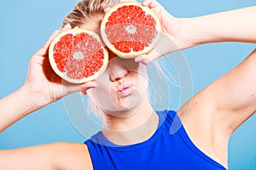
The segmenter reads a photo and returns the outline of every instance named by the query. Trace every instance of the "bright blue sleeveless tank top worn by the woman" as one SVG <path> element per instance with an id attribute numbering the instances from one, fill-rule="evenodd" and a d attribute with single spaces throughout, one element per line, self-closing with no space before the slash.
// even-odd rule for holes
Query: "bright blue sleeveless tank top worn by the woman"
<path id="1" fill-rule="evenodd" d="M 189 139 L 175 111 L 157 111 L 160 122 L 154 135 L 139 144 L 120 146 L 101 132 L 84 142 L 95 170 L 219 170 L 225 169 Z"/>

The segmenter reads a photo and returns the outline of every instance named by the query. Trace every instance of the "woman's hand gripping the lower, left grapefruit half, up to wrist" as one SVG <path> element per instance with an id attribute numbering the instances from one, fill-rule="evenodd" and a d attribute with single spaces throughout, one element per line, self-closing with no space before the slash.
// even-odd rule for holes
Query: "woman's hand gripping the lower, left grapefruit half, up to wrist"
<path id="1" fill-rule="evenodd" d="M 61 31 L 70 29 L 67 25 Z M 33 54 L 29 62 L 25 87 L 30 93 L 40 97 L 42 105 L 54 102 L 67 94 L 80 92 L 85 94 L 88 88 L 96 86 L 95 82 L 87 82 L 84 84 L 73 84 L 61 79 L 52 70 L 49 64 L 48 49 L 50 42 L 61 32 L 55 31 L 45 42 L 44 46 Z"/>

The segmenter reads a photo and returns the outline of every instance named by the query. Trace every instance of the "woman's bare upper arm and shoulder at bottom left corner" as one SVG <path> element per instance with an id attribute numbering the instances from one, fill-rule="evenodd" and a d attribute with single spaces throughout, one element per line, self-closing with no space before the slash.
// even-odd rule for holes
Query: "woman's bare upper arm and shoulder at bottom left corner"
<path id="1" fill-rule="evenodd" d="M 15 163 L 14 163 L 15 162 Z M 0 150 L 3 169 L 93 169 L 85 144 L 53 143 Z"/>

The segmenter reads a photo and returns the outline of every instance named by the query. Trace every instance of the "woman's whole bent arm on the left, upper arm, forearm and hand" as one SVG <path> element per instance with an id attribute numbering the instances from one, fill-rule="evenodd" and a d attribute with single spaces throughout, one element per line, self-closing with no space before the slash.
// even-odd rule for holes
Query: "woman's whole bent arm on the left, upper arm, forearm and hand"
<path id="1" fill-rule="evenodd" d="M 68 29 L 66 26 L 64 29 Z M 61 99 L 67 94 L 84 92 L 95 82 L 82 85 L 62 81 L 51 69 L 49 43 L 55 31 L 29 63 L 26 82 L 13 94 L 0 99 L 0 132 L 22 117 Z M 14 105 L 15 104 L 15 105 Z M 68 161 L 67 161 L 68 160 Z M 0 150 L 1 169 L 91 169 L 90 155 L 84 144 L 55 143 L 15 150 Z"/>

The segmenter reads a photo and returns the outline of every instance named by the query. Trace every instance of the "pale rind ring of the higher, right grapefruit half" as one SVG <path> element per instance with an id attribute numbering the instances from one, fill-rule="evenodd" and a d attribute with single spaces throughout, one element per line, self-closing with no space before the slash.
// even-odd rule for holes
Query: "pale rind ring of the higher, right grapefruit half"
<path id="1" fill-rule="evenodd" d="M 106 34 L 105 31 L 105 26 L 106 23 L 108 22 L 108 18 L 109 16 L 116 11 L 118 8 L 124 7 L 124 6 L 137 6 L 143 9 L 143 11 L 146 14 L 151 15 L 155 22 L 155 30 L 157 32 L 156 37 L 154 37 L 153 41 L 148 44 L 148 47 L 145 47 L 143 50 L 141 51 L 130 51 L 129 53 L 124 53 L 122 51 L 120 51 L 119 49 L 116 49 L 113 44 L 111 42 L 109 42 L 108 40 L 108 35 Z M 102 40 L 103 42 L 105 42 L 106 46 L 114 53 L 117 54 L 119 57 L 121 58 L 125 58 L 125 59 L 130 59 L 130 58 L 134 58 L 138 55 L 143 55 L 143 54 L 148 54 L 157 44 L 157 42 L 160 39 L 160 31 L 161 31 L 161 24 L 160 24 L 160 20 L 157 16 L 157 14 L 154 13 L 154 11 L 152 11 L 150 8 L 143 6 L 141 3 L 137 3 L 137 2 L 122 2 L 122 3 L 117 3 L 116 5 L 114 5 L 112 8 L 110 8 L 108 10 L 108 12 L 104 15 L 103 19 L 102 19 L 102 24 L 101 24 L 101 35 L 102 35 Z"/>

